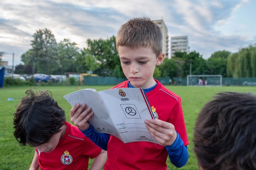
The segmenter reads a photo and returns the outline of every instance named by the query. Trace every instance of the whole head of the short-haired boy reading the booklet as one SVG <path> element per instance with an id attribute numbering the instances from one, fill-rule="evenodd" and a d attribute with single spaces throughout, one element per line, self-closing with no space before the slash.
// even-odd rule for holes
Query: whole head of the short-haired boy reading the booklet
<path id="1" fill-rule="evenodd" d="M 160 27 L 147 17 L 130 19 L 119 29 L 117 51 L 123 72 L 134 87 L 154 85 L 155 66 L 161 64 L 165 56 L 162 40 Z"/>

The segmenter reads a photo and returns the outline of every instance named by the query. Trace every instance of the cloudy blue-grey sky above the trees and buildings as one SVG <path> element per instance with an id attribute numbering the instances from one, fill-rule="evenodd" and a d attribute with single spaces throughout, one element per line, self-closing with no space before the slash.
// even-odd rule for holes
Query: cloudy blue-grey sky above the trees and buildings
<path id="1" fill-rule="evenodd" d="M 237 52 L 256 43 L 255 0 L 0 0 L 0 51 L 12 65 L 31 48 L 39 29 L 50 29 L 86 47 L 106 39 L 133 17 L 163 19 L 169 37 L 187 35 L 191 51 L 203 58 L 219 50 Z M 170 39 L 169 39 L 170 43 Z M 170 47 L 170 44 L 169 44 Z"/>

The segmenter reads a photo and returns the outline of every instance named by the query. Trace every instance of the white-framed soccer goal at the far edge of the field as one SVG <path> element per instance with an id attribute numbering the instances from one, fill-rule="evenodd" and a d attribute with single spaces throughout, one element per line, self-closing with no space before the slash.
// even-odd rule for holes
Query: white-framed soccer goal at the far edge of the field
<path id="1" fill-rule="evenodd" d="M 187 86 L 222 86 L 222 75 L 187 75 Z"/>

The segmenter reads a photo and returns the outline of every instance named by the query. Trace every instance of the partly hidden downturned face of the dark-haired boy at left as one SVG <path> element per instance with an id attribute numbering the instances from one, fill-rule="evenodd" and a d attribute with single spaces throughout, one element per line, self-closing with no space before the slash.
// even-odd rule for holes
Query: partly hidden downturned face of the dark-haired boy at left
<path id="1" fill-rule="evenodd" d="M 47 142 L 47 143 L 44 143 L 42 145 L 39 145 L 39 146 L 36 146 L 35 148 L 38 149 L 40 152 L 51 152 L 53 151 L 56 146 L 58 145 L 59 141 L 60 141 L 60 132 L 59 133 L 56 133 L 54 134 L 50 141 Z"/>

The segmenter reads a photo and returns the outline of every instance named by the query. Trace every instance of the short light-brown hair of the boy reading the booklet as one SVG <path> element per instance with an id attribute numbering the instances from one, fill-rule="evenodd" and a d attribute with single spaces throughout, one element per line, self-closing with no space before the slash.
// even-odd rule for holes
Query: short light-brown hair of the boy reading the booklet
<path id="1" fill-rule="evenodd" d="M 163 35 L 160 27 L 147 17 L 137 17 L 124 23 L 116 36 L 119 46 L 139 48 L 149 47 L 156 57 L 162 53 Z"/>

